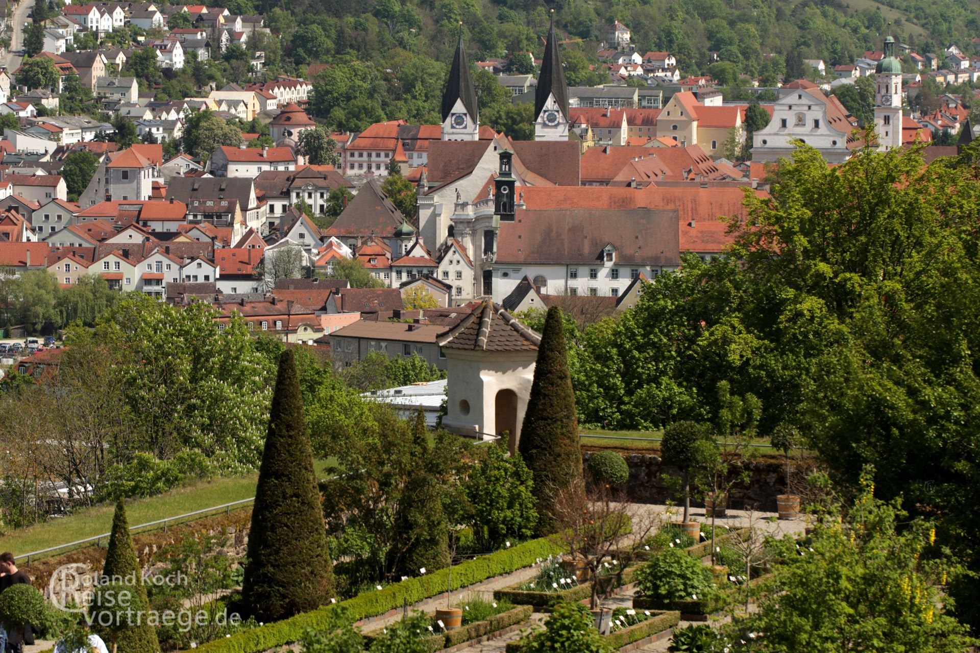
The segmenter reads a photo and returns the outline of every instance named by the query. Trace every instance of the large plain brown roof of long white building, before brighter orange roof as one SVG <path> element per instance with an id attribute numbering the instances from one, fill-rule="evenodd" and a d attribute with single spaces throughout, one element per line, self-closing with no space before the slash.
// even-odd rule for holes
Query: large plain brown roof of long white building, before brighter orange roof
<path id="1" fill-rule="evenodd" d="M 599 265 L 610 244 L 620 264 L 679 265 L 677 210 L 517 210 L 500 225 L 497 260 Z"/>

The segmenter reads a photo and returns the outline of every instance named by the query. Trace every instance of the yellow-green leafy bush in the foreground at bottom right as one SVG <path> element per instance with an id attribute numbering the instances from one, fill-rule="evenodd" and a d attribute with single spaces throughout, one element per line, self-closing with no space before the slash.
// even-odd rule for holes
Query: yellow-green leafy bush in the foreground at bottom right
<path id="1" fill-rule="evenodd" d="M 875 498 L 869 473 L 845 513 L 828 507 L 835 519 L 815 524 L 809 546 L 789 547 L 775 567 L 783 590 L 739 623 L 760 633 L 749 650 L 965 650 L 966 629 L 943 609 L 954 566 L 934 528 Z"/>

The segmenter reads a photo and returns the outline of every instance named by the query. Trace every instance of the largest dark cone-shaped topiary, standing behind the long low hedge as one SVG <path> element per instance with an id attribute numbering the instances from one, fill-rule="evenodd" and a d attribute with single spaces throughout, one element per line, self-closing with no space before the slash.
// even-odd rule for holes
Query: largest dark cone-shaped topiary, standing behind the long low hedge
<path id="1" fill-rule="evenodd" d="M 252 509 L 241 608 L 259 621 L 277 621 L 318 607 L 332 586 L 303 396 L 293 352 L 285 350 Z"/>

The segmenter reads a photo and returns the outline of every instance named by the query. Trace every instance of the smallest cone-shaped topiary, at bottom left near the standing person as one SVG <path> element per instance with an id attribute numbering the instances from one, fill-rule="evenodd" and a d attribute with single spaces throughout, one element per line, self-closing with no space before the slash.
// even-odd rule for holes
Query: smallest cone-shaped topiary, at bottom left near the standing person
<path id="1" fill-rule="evenodd" d="M 139 558 L 136 556 L 136 548 L 132 545 L 132 537 L 129 536 L 129 520 L 125 516 L 122 497 L 116 503 L 113 531 L 109 536 L 109 549 L 106 551 L 106 564 L 102 567 L 102 576 L 116 585 L 124 584 L 132 592 L 129 597 L 133 603 L 131 607 L 134 613 L 139 611 L 142 619 L 139 619 L 138 615 L 130 615 L 127 625 L 114 625 L 111 629 L 114 632 L 99 628 L 96 622 L 97 630 L 112 637 L 119 650 L 125 653 L 160 653 L 157 630 L 147 623 L 150 602 L 146 598 L 146 587 L 143 585 L 143 573 L 139 566 Z"/>

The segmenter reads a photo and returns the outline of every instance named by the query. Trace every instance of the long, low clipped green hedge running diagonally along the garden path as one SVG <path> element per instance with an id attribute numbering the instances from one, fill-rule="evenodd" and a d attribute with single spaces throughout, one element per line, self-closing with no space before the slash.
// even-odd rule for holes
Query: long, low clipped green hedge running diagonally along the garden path
<path id="1" fill-rule="evenodd" d="M 475 560 L 466 560 L 466 562 L 453 567 L 452 587 L 459 589 L 495 576 L 510 574 L 522 567 L 534 564 L 538 558 L 547 558 L 549 555 L 560 552 L 561 547 L 549 538 L 541 537 Z M 343 605 L 350 609 L 351 616 L 355 620 L 383 615 L 389 610 L 402 607 L 406 601 L 411 605 L 441 594 L 446 591 L 449 582 L 448 577 L 449 570 L 440 569 L 419 578 L 392 583 L 383 589 L 365 592 L 343 601 Z M 197 650 L 202 653 L 260 653 L 260 651 L 267 651 L 270 648 L 297 641 L 303 631 L 308 628 L 325 630 L 326 612 L 329 609 L 330 606 L 325 605 L 316 610 L 284 619 L 281 622 L 242 630 L 230 637 L 216 639 L 198 646 Z"/>

